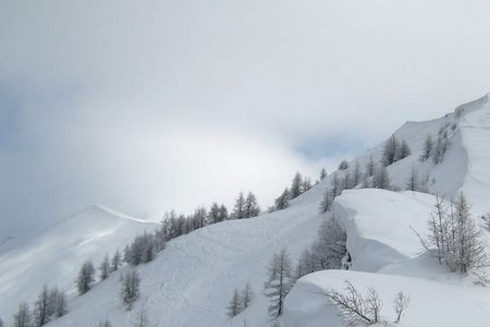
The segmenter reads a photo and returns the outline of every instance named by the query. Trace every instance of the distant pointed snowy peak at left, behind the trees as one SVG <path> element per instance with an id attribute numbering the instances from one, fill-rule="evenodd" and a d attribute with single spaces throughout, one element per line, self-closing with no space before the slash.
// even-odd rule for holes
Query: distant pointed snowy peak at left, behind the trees
<path id="1" fill-rule="evenodd" d="M 46 283 L 72 292 L 86 259 L 98 264 L 135 234 L 155 223 L 137 220 L 101 206 L 90 206 L 48 228 L 21 247 L 0 255 L 0 308 L 3 319 L 22 301 L 33 302 Z"/>

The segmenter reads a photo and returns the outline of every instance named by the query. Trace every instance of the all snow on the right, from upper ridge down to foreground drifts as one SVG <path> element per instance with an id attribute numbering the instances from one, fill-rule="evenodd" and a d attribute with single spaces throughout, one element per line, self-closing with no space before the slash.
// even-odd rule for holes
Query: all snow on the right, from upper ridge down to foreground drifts
<path id="1" fill-rule="evenodd" d="M 451 145 L 442 164 L 420 162 L 424 140 L 443 129 Z M 394 185 L 405 189 L 412 168 L 428 174 L 429 190 L 448 199 L 461 191 L 471 203 L 475 219 L 490 209 L 490 104 L 485 96 L 460 106 L 444 118 L 406 123 L 395 132 L 413 155 L 391 165 Z M 381 157 L 382 144 L 357 158 L 367 162 Z M 322 294 L 341 291 L 348 280 L 362 292 L 375 288 L 384 308 L 394 319 L 392 301 L 397 291 L 411 296 L 403 326 L 487 326 L 490 320 L 490 291 L 475 284 L 475 277 L 450 272 L 427 254 L 413 230 L 427 233 L 427 219 L 433 210 L 433 195 L 381 190 L 344 191 L 335 199 L 334 211 L 347 233 L 352 256 L 348 271 L 319 271 L 301 279 L 286 300 L 283 327 L 343 326 L 339 312 Z M 488 231 L 483 241 L 490 244 Z M 490 270 L 488 271 L 490 272 Z"/>

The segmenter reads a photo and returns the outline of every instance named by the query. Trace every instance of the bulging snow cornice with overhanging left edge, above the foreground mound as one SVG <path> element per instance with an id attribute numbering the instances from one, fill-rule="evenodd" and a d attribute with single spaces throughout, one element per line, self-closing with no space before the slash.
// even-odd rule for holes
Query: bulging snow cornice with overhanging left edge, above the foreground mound
<path id="1" fill-rule="evenodd" d="M 416 257 L 432 210 L 432 195 L 384 190 L 344 191 L 333 210 L 347 232 L 354 270 L 378 271 L 388 264 Z"/>

